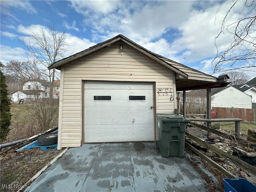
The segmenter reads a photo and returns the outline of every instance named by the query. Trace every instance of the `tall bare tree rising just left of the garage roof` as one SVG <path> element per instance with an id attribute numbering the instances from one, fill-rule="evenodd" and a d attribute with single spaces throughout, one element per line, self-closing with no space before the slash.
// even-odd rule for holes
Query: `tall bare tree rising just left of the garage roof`
<path id="1" fill-rule="evenodd" d="M 42 27 L 38 32 L 31 32 L 29 42 L 25 39 L 20 40 L 25 46 L 28 58 L 38 60 L 43 66 L 50 66 L 65 57 L 66 48 L 66 33 L 57 32 L 53 26 L 47 29 Z M 55 69 L 48 71 L 50 79 L 50 98 L 53 97 Z"/>

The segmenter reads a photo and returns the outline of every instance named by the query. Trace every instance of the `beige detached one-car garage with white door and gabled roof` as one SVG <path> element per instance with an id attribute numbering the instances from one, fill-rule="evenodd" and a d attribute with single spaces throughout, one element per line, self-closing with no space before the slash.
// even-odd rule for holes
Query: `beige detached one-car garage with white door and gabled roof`
<path id="1" fill-rule="evenodd" d="M 90 142 L 155 141 L 156 113 L 176 91 L 226 86 L 118 35 L 52 64 L 60 70 L 58 149 Z"/>

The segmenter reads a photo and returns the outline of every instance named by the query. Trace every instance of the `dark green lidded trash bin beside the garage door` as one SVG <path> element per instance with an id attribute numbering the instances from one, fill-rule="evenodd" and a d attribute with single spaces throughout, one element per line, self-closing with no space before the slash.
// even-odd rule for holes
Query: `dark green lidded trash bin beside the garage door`
<path id="1" fill-rule="evenodd" d="M 177 114 L 156 114 L 158 140 L 156 142 L 162 156 L 183 158 L 187 118 Z"/>

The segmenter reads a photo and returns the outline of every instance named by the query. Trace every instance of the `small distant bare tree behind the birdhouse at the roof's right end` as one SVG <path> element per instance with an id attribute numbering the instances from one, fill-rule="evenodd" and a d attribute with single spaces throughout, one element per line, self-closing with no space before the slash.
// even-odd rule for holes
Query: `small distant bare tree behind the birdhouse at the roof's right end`
<path id="1" fill-rule="evenodd" d="M 224 74 L 227 74 L 229 76 L 228 82 L 230 82 L 231 86 L 245 84 L 250 79 L 250 76 L 246 75 L 244 71 L 240 70 L 230 70 L 220 75 Z"/>

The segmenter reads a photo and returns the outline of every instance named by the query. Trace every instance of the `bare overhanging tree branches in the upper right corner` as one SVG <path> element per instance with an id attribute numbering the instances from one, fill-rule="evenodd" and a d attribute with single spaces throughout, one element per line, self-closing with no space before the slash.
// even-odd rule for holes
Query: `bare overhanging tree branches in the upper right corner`
<path id="1" fill-rule="evenodd" d="M 238 21 L 228 23 L 228 16 L 233 15 L 235 7 L 238 6 L 240 2 L 244 3 L 244 7 L 240 11 Z M 234 68 L 235 70 L 247 67 L 256 67 L 255 9 L 255 0 L 236 0 L 227 11 L 224 19 L 222 20 L 220 33 L 215 38 L 217 55 L 212 61 L 212 65 L 214 66 L 214 72 L 223 71 L 223 64 L 228 64 L 231 67 L 236 62 L 241 62 L 243 64 L 248 63 L 249 66 Z M 222 34 L 226 32 L 234 35 L 234 39 L 230 43 L 230 46 L 222 53 L 218 51 L 217 40 Z"/>

